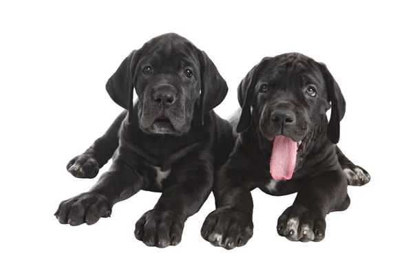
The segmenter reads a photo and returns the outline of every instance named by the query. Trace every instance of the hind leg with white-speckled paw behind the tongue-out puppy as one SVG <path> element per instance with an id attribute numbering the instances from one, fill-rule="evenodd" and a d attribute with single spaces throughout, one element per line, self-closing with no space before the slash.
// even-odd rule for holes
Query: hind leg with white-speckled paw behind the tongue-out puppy
<path id="1" fill-rule="evenodd" d="M 339 164 L 341 169 L 343 169 L 344 175 L 346 175 L 348 185 L 363 186 L 368 184 L 371 178 L 370 174 L 362 167 L 353 164 L 352 161 L 341 152 L 339 146 L 336 146 L 336 151 Z"/>

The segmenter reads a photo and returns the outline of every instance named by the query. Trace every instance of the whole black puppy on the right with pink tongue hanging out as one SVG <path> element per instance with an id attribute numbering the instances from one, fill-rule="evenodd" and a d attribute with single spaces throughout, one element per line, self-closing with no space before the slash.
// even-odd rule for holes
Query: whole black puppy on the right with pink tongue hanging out
<path id="1" fill-rule="evenodd" d="M 235 126 L 239 118 L 240 136 L 215 177 L 217 209 L 204 221 L 202 236 L 226 249 L 245 245 L 253 235 L 251 190 L 260 188 L 276 196 L 298 192 L 278 219 L 279 235 L 321 241 L 326 215 L 350 205 L 348 184 L 370 181 L 335 145 L 346 110 L 339 85 L 324 64 L 282 54 L 248 72 L 238 100 L 242 111 L 231 122 Z"/>

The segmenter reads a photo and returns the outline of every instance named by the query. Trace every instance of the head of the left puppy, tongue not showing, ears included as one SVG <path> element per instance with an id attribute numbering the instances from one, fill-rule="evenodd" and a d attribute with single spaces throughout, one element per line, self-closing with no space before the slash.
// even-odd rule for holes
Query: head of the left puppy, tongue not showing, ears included
<path id="1" fill-rule="evenodd" d="M 114 102 L 129 110 L 129 123 L 138 115 L 145 133 L 171 135 L 187 133 L 193 120 L 202 120 L 228 91 L 207 54 L 178 34 L 162 34 L 131 52 L 106 89 Z"/>

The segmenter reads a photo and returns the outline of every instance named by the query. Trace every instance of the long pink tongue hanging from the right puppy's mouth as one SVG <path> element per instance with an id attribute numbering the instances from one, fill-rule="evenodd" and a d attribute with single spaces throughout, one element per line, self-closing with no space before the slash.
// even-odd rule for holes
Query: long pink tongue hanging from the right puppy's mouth
<path id="1" fill-rule="evenodd" d="M 277 135 L 271 152 L 270 173 L 273 179 L 290 179 L 295 168 L 297 158 L 297 142 Z"/>

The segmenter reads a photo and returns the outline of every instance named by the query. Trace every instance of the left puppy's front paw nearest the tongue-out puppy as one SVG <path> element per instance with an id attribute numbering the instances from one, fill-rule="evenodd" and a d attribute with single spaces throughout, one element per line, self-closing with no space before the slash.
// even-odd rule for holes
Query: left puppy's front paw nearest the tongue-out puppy
<path id="1" fill-rule="evenodd" d="M 166 248 L 182 239 L 184 219 L 168 210 L 149 210 L 135 225 L 135 237 L 147 246 Z"/>

